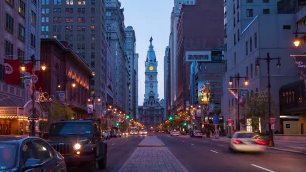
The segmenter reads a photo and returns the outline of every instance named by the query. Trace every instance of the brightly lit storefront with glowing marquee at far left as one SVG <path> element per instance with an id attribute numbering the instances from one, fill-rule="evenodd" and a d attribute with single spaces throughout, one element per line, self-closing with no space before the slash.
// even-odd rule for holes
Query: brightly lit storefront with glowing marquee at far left
<path id="1" fill-rule="evenodd" d="M 34 104 L 36 114 L 39 117 L 35 121 L 35 135 L 47 130 L 44 124 L 47 122 L 47 114 L 39 103 Z M 0 135 L 29 135 L 31 132 L 29 116 L 32 116 L 32 101 L 28 101 L 24 107 L 0 107 Z"/>

